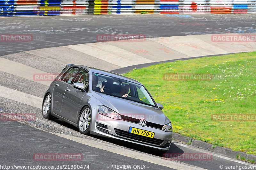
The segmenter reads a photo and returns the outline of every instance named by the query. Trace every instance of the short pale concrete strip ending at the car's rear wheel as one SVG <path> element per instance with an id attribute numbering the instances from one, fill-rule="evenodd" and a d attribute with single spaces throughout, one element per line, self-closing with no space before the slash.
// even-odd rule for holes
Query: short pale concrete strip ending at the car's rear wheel
<path id="1" fill-rule="evenodd" d="M 1 85 L 0 92 L 1 97 L 42 109 L 43 98 L 20 92 L 18 90 L 13 90 Z"/>

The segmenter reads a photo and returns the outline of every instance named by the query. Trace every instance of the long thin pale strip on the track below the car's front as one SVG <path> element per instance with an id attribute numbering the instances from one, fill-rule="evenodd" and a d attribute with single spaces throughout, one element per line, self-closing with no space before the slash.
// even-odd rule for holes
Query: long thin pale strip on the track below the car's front
<path id="1" fill-rule="evenodd" d="M 101 142 L 97 142 L 97 141 L 93 141 L 90 139 L 84 139 L 84 138 L 80 138 L 80 137 L 73 137 L 73 136 L 69 136 L 69 135 L 64 135 L 64 134 L 60 134 L 60 133 L 52 133 L 54 135 L 60 136 L 60 137 L 64 137 L 66 139 L 69 140 L 73 140 L 76 141 L 78 143 L 81 144 L 85 144 L 88 146 L 92 146 L 95 148 L 99 148 L 99 149 L 103 149 L 105 151 L 108 152 L 113 152 L 119 155 L 124 155 L 130 158 L 134 158 L 134 159 L 139 159 L 139 160 L 143 160 L 143 161 L 147 161 L 153 164 L 157 164 L 157 165 L 161 165 L 161 166 L 166 166 L 169 168 L 173 168 L 173 169 L 179 169 L 179 170 L 206 170 L 204 168 L 200 168 L 197 166 L 188 166 L 185 165 L 184 163 L 180 163 L 180 162 L 175 162 L 175 161 L 170 161 L 170 160 L 165 160 L 162 158 L 156 158 L 154 156 L 150 156 L 144 153 L 139 153 L 139 152 L 135 152 L 135 151 L 131 151 L 125 148 L 121 148 L 118 146 L 111 146 L 109 144 L 102 144 Z"/>

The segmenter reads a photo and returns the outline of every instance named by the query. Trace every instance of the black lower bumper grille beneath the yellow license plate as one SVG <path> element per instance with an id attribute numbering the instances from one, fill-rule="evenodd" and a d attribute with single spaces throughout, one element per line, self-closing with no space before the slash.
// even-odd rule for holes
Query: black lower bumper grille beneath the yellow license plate
<path id="1" fill-rule="evenodd" d="M 116 132 L 116 135 L 118 135 L 118 136 L 126 137 L 126 138 L 136 140 L 136 141 L 140 141 L 140 142 L 145 142 L 145 143 L 148 143 L 148 144 L 160 145 L 164 142 L 164 140 L 150 138 L 150 137 L 144 137 L 144 136 L 129 133 L 127 131 L 116 129 L 116 128 L 115 128 L 115 132 Z"/>

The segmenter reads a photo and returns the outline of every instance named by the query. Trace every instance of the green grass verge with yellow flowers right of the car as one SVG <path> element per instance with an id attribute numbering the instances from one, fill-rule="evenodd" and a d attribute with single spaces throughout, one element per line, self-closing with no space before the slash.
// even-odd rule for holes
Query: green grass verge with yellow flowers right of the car
<path id="1" fill-rule="evenodd" d="M 211 74 L 212 79 L 172 81 L 166 77 L 188 73 Z M 163 104 L 174 132 L 256 155 L 256 52 L 177 60 L 135 68 L 124 76 L 143 83 L 156 102 Z M 238 120 L 223 121 L 229 114 Z M 239 119 L 244 115 L 245 119 Z"/>

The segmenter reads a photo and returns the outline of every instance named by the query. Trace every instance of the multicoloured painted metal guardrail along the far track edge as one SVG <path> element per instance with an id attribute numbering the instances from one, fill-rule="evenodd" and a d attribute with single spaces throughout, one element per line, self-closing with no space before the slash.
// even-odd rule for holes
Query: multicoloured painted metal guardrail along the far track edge
<path id="1" fill-rule="evenodd" d="M 0 16 L 256 13 L 247 0 L 0 0 Z"/>

